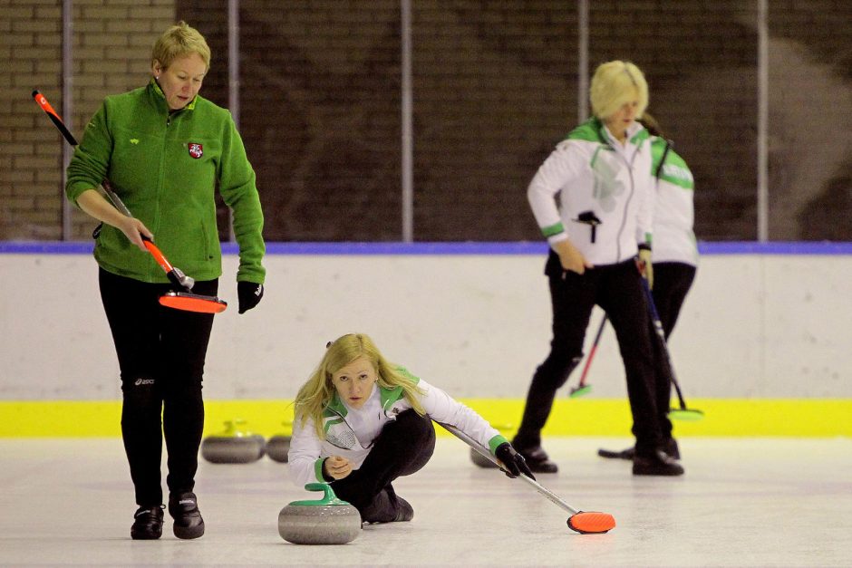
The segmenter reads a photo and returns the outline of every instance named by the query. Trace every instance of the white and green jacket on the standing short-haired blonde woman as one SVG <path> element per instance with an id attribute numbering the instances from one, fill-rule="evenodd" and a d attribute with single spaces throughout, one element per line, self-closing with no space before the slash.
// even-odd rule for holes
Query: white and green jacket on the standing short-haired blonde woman
<path id="1" fill-rule="evenodd" d="M 651 173 L 649 135 L 641 124 L 631 125 L 622 146 L 592 118 L 547 157 L 527 197 L 548 243 L 567 239 L 593 265 L 614 265 L 634 257 L 638 245 L 651 244 Z M 584 214 L 600 224 L 593 228 L 583 222 Z"/>

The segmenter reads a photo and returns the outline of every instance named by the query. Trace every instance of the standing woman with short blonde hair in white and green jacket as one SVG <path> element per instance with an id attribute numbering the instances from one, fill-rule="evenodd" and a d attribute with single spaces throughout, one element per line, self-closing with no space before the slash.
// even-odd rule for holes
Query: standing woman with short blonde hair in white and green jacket
<path id="1" fill-rule="evenodd" d="M 528 200 L 550 244 L 545 274 L 553 307 L 553 340 L 530 383 L 513 445 L 532 471 L 555 473 L 541 447 L 541 429 L 557 390 L 583 357 L 595 304 L 618 338 L 636 438 L 634 475 L 678 476 L 683 467 L 664 449 L 672 439 L 669 391 L 655 364 L 651 324 L 637 270 L 651 272 L 654 185 L 647 130 L 636 120 L 648 104 L 648 85 L 633 63 L 601 64 L 590 86 L 594 117 L 573 130 L 538 168 Z M 557 204 L 558 196 L 558 204 Z"/>

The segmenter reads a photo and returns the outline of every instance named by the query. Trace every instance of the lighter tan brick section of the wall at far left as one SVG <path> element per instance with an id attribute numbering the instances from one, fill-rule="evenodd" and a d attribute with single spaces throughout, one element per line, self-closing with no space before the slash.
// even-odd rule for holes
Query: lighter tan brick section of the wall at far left
<path id="1" fill-rule="evenodd" d="M 53 123 L 30 96 L 37 88 L 62 112 L 61 0 L 0 3 L 0 55 L 9 62 L 0 107 L 0 238 L 62 236 L 62 145 Z M 174 0 L 74 0 L 73 133 L 107 94 L 150 76 L 150 47 L 174 23 Z M 73 210 L 72 236 L 91 238 L 95 222 Z"/>

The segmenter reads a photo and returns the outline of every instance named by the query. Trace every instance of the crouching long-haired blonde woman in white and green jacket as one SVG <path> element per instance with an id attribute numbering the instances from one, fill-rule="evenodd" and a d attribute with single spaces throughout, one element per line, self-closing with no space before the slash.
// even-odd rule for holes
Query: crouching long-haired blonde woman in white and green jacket
<path id="1" fill-rule="evenodd" d="M 410 521 L 414 511 L 396 495 L 392 481 L 429 461 L 435 448 L 432 419 L 489 448 L 509 477 L 533 477 L 524 458 L 485 419 L 387 361 L 363 333 L 329 343 L 296 395 L 290 475 L 298 486 L 331 483 L 365 523 Z"/>

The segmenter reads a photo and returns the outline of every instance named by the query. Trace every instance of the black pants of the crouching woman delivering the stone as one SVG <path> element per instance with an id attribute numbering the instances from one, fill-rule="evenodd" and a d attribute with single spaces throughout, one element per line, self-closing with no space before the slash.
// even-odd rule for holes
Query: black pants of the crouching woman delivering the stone
<path id="1" fill-rule="evenodd" d="M 390 521 L 397 510 L 392 481 L 420 471 L 434 451 L 431 419 L 405 410 L 382 428 L 361 467 L 332 483 L 334 494 L 358 509 L 365 521 Z"/>

